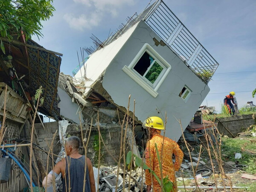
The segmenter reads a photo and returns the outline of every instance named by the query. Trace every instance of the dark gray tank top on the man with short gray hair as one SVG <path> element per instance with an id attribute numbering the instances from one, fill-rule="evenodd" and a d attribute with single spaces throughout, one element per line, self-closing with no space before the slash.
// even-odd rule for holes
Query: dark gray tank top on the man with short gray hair
<path id="1" fill-rule="evenodd" d="M 63 178 L 63 189 L 62 192 L 68 192 L 70 188 L 70 192 L 83 192 L 84 186 L 84 166 L 85 166 L 85 156 L 78 159 L 74 159 L 72 157 L 66 158 L 66 177 Z M 67 162 L 70 164 L 70 187 L 69 187 L 69 174 L 68 174 L 68 165 Z M 67 190 L 66 190 L 67 186 Z M 89 177 L 89 170 L 88 166 L 86 166 L 86 177 L 85 177 L 85 192 L 90 192 L 90 177 Z"/>

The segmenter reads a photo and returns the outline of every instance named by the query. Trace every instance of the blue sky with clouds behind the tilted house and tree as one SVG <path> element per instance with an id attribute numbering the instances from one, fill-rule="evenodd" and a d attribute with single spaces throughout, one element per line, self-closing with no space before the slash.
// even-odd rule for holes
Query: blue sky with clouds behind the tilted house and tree
<path id="1" fill-rule="evenodd" d="M 33 40 L 46 49 L 63 53 L 61 72 L 72 75 L 78 65 L 77 51 L 93 45 L 92 33 L 104 41 L 110 31 L 115 32 L 119 24 L 126 23 L 127 16 L 142 12 L 149 1 L 54 0 L 54 16 L 43 22 L 44 38 L 39 41 L 33 37 Z M 256 103 L 251 96 L 256 88 L 256 1 L 165 0 L 165 3 L 220 64 L 208 84 L 211 91 L 202 105 L 215 106 L 220 112 L 224 96 L 230 91 L 236 92 L 239 107 L 247 101 Z"/>

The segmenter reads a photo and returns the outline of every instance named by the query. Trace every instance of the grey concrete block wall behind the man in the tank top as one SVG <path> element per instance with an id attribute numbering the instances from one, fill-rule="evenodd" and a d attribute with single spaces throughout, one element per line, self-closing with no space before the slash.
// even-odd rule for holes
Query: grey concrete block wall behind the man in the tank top
<path id="1" fill-rule="evenodd" d="M 58 122 L 48 122 L 44 123 L 45 130 L 43 129 L 41 124 L 35 124 L 35 130 L 38 134 L 38 140 L 39 145 L 41 148 L 43 148 L 45 151 L 49 151 L 49 147 L 51 145 L 53 136 L 56 132 L 56 135 L 53 140 L 53 153 L 57 154 L 61 150 L 61 143 L 59 141 L 59 134 L 58 134 Z M 82 127 L 83 137 L 85 137 L 88 140 L 88 134 L 90 130 L 90 126 L 88 124 L 85 124 Z M 116 157 L 118 160 L 119 158 L 119 150 L 120 150 L 120 140 L 121 140 L 121 127 L 117 124 L 103 124 L 100 126 L 100 131 L 104 140 L 105 145 L 108 148 L 108 151 Z M 124 131 L 123 131 L 124 132 Z M 81 128 L 80 125 L 71 124 L 67 127 L 66 131 L 67 136 L 77 136 L 82 141 L 81 137 Z M 96 126 L 92 126 L 92 130 L 90 133 L 89 143 L 87 147 L 87 157 L 90 158 L 93 165 L 96 165 L 98 162 L 98 154 L 99 152 L 96 151 L 96 149 L 99 147 L 99 132 Z M 82 146 L 82 143 L 80 143 L 80 154 L 84 154 L 84 148 Z M 111 155 L 108 153 L 108 151 L 105 149 L 105 146 L 103 143 L 101 143 L 101 152 L 100 152 L 100 163 L 106 164 L 106 165 L 116 165 L 116 162 L 113 160 Z M 47 165 L 47 159 L 48 156 L 44 152 L 40 152 L 40 157 L 43 161 L 43 165 L 46 167 Z M 54 160 L 56 160 L 57 157 L 54 156 Z M 52 160 L 49 158 L 49 166 L 52 166 Z"/>

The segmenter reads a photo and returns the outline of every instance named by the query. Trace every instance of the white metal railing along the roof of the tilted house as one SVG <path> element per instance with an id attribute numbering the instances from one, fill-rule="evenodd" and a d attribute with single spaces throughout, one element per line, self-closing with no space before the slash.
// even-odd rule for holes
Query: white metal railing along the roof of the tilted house
<path id="1" fill-rule="evenodd" d="M 200 79 L 210 81 L 218 62 L 162 0 L 152 5 L 143 20 Z"/>

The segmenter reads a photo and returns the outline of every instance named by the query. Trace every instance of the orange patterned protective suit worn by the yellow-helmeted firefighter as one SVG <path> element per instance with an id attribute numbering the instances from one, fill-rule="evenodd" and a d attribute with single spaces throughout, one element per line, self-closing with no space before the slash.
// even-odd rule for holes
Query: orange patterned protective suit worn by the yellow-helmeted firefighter
<path id="1" fill-rule="evenodd" d="M 175 171 L 180 169 L 180 165 L 183 160 L 183 152 L 180 150 L 179 145 L 169 139 L 168 137 L 164 138 L 164 145 L 163 143 L 163 136 L 160 134 L 154 135 L 151 140 L 148 141 L 146 151 L 145 151 L 145 158 L 146 158 L 146 165 L 153 170 L 156 175 L 161 179 L 161 172 L 160 166 L 157 159 L 157 152 L 155 148 L 155 143 L 157 143 L 157 149 L 159 152 L 159 156 L 161 159 L 161 151 L 163 146 L 163 161 L 162 161 L 162 169 L 163 169 L 163 178 L 168 175 L 169 180 L 173 183 L 173 191 L 177 192 L 176 186 L 176 179 L 175 179 Z M 150 146 L 150 150 L 149 147 Z M 172 162 L 172 154 L 175 154 L 175 163 Z M 161 192 L 161 186 L 157 182 L 156 178 L 153 176 L 153 183 L 151 183 L 151 174 L 149 173 L 148 169 L 145 171 L 146 173 L 146 181 L 145 184 L 153 185 L 153 192 Z"/>

